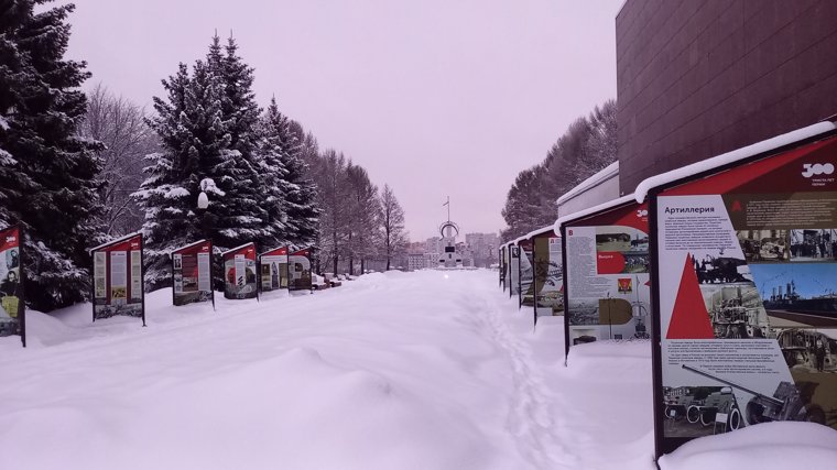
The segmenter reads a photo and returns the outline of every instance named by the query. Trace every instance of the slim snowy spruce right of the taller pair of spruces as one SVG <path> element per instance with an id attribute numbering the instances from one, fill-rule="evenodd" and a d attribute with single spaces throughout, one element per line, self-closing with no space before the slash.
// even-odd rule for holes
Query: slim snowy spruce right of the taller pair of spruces
<path id="1" fill-rule="evenodd" d="M 265 174 L 271 178 L 265 182 L 267 190 L 278 189 L 284 199 L 284 238 L 297 245 L 311 244 L 317 238 L 319 225 L 317 189 L 307 176 L 308 168 L 302 156 L 303 143 L 293 131 L 292 121 L 279 111 L 275 98 L 271 99 L 262 116 L 260 129 Z M 279 160 L 275 163 L 274 157 Z"/>

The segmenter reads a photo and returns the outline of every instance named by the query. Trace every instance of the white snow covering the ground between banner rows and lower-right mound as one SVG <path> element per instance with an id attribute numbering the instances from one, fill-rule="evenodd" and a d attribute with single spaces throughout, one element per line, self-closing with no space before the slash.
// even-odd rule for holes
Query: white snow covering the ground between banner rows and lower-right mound
<path id="1" fill-rule="evenodd" d="M 496 272 L 216 300 L 149 294 L 148 328 L 31 311 L 29 348 L 0 338 L 0 469 L 654 468 L 650 345 L 584 345 L 565 367 L 562 318 L 533 331 Z M 782 423 L 661 463 L 828 468 L 835 449 L 837 431 Z"/>

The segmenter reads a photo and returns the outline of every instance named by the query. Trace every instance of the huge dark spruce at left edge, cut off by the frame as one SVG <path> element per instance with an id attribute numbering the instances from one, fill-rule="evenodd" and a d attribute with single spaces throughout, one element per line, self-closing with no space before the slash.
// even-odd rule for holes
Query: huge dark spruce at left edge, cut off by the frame
<path id="1" fill-rule="evenodd" d="M 85 63 L 65 61 L 66 4 L 0 3 L 0 227 L 25 229 L 26 300 L 51 310 L 89 297 L 101 145 L 77 136 Z"/>

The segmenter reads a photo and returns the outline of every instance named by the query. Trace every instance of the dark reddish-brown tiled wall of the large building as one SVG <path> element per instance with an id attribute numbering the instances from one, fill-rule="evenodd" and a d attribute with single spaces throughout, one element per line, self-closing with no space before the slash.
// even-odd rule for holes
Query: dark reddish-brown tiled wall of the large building
<path id="1" fill-rule="evenodd" d="M 628 0 L 616 36 L 622 194 L 837 113 L 837 0 Z"/>

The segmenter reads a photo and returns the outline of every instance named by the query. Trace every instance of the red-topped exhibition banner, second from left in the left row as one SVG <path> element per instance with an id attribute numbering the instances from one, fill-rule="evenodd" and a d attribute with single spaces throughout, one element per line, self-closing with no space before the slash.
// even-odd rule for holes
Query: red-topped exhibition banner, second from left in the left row
<path id="1" fill-rule="evenodd" d="M 90 249 L 93 255 L 93 320 L 115 315 L 142 318 L 145 293 L 142 234 L 132 233 Z"/>

